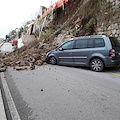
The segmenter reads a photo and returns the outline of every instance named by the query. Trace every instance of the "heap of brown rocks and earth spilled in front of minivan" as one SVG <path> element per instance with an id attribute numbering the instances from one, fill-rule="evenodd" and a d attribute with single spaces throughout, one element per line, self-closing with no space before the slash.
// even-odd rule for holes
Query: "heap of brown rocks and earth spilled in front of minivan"
<path id="1" fill-rule="evenodd" d="M 16 70 L 35 69 L 35 66 L 45 65 L 46 53 L 55 49 L 52 44 L 29 44 L 8 55 L 0 56 L 0 72 L 5 72 L 7 67 Z"/>

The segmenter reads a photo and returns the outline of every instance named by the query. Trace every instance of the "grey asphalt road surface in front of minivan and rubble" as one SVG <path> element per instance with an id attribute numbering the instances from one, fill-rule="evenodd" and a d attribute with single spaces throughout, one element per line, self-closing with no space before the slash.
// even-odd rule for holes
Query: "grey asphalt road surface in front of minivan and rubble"
<path id="1" fill-rule="evenodd" d="M 45 65 L 5 75 L 22 120 L 120 120 L 120 68 Z"/>

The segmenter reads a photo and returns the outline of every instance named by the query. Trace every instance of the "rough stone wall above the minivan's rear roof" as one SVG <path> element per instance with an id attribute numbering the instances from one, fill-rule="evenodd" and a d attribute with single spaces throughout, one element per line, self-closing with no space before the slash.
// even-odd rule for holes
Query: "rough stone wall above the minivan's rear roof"
<path id="1" fill-rule="evenodd" d="M 98 22 L 98 34 L 114 36 L 120 40 L 120 0 L 106 0 L 106 2 L 110 4 L 110 10 L 103 14 L 109 14 L 110 19 Z"/>

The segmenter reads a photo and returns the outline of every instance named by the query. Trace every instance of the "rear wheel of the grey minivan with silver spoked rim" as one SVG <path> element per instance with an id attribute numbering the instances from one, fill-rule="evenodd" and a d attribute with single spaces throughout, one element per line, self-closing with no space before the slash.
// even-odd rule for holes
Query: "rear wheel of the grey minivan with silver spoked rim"
<path id="1" fill-rule="evenodd" d="M 104 63 L 99 58 L 94 58 L 90 61 L 90 68 L 93 71 L 100 72 L 104 69 Z"/>

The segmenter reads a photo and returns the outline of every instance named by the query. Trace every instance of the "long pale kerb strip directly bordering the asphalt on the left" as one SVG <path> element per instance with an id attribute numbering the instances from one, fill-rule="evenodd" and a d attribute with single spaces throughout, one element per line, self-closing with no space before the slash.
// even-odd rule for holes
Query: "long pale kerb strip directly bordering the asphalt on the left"
<path id="1" fill-rule="evenodd" d="M 21 120 L 19 113 L 16 109 L 15 103 L 13 101 L 13 98 L 11 96 L 10 90 L 8 88 L 6 79 L 5 79 L 5 75 L 4 72 L 1 73 L 1 84 L 3 87 L 3 91 L 4 91 L 4 96 L 6 98 L 6 102 L 8 105 L 8 109 L 9 109 L 9 114 L 10 114 L 10 119 L 8 118 L 8 120 Z"/>

